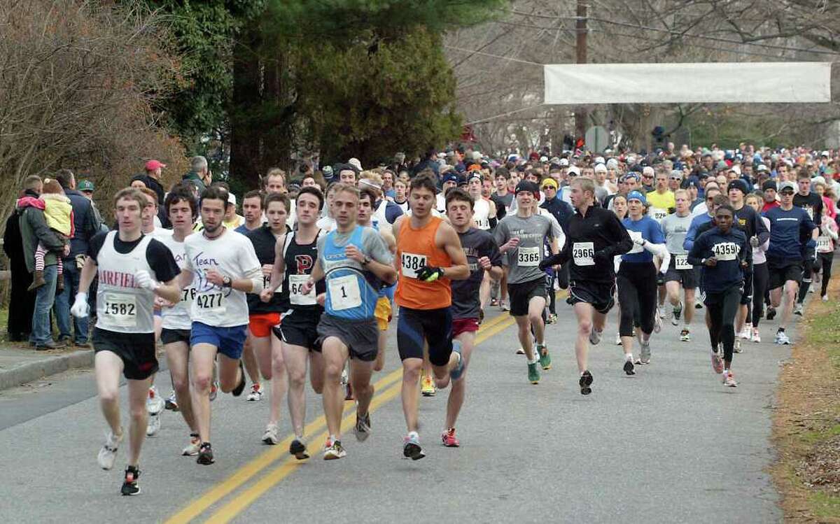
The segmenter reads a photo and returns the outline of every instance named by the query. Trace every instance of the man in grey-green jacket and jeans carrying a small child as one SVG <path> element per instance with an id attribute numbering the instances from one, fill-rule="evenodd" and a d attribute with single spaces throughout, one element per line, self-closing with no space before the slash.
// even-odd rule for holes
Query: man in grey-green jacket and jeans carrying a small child
<path id="1" fill-rule="evenodd" d="M 64 343 L 53 342 L 50 330 L 50 309 L 55 301 L 55 280 L 58 261 L 56 254 L 64 252 L 64 243 L 47 226 L 44 212 L 38 207 L 18 207 L 18 223 L 20 225 L 20 236 L 24 248 L 24 259 L 26 269 L 32 273 L 35 269 L 35 248 L 38 243 L 48 249 L 44 258 L 44 280 L 45 285 L 35 291 L 35 306 L 32 316 L 32 332 L 29 335 L 29 343 L 34 344 L 35 349 L 56 349 L 63 348 Z"/>

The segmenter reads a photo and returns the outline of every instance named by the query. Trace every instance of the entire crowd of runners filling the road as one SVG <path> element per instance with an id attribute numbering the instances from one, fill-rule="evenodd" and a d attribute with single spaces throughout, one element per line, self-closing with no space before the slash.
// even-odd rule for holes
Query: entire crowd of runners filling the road
<path id="1" fill-rule="evenodd" d="M 787 344 L 785 328 L 809 292 L 827 300 L 835 155 L 742 144 L 502 158 L 450 149 L 412 165 L 397 155 L 370 170 L 350 159 L 302 165 L 294 176 L 270 170 L 265 187 L 242 195 L 242 216 L 223 182 L 185 176 L 159 202 L 135 180 L 113 196 L 116 226 L 92 239 L 71 307 L 76 317 L 96 317 L 97 390 L 109 427 L 98 463 L 112 469 L 128 433 L 122 493 L 139 493 L 140 448 L 168 408 L 183 418 L 167 422 L 184 425 L 183 455 L 213 464 L 218 391 L 248 401 L 265 394 L 268 420 L 253 430 L 265 444 L 286 432 L 286 404 L 289 453 L 307 459 L 307 375 L 328 427 L 323 459 L 342 459 L 345 401 L 355 401 L 355 438 L 365 441 L 374 427 L 371 377 L 384 367 L 392 318 L 402 453 L 413 460 L 425 456 L 420 397 L 437 390 L 449 389 L 441 443 L 459 446 L 475 333 L 490 307 L 516 320 L 523 382 L 538 384 L 552 354 L 574 345 L 575 380 L 590 395 L 587 354 L 605 332 L 621 346 L 616 371 L 635 375 L 657 345 L 697 336 L 699 314 L 712 371 L 736 387 L 733 355 L 760 342 L 761 320 L 778 322 L 774 342 Z M 192 164 L 207 172 L 202 157 Z M 571 314 L 575 336 L 549 340 L 546 324 Z M 660 333 L 668 320 L 681 326 L 679 339 Z M 153 385 L 158 343 L 173 385 L 166 399 Z"/>

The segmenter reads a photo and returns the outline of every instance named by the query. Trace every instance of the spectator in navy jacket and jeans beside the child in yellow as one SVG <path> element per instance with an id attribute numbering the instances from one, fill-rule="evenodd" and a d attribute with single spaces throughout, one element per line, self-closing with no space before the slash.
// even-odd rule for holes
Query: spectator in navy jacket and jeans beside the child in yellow
<path id="1" fill-rule="evenodd" d="M 88 243 L 93 235 L 99 233 L 102 223 L 92 202 L 87 196 L 76 191 L 76 176 L 71 170 L 59 170 L 55 174 L 55 180 L 64 189 L 64 194 L 70 198 L 75 229 L 73 238 L 70 240 L 70 254 L 64 259 L 64 291 L 55 296 L 55 324 L 58 326 L 59 340 L 66 342 L 71 339 L 70 307 L 79 291 L 79 276 L 81 267 L 85 263 Z M 80 348 L 90 347 L 87 343 L 87 334 L 88 318 L 73 317 L 73 343 Z"/>

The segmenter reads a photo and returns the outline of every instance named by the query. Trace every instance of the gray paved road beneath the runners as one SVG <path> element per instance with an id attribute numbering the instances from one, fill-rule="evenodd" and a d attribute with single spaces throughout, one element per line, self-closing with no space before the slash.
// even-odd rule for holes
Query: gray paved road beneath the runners
<path id="1" fill-rule="evenodd" d="M 356 443 L 352 419 L 345 419 L 346 459 L 288 459 L 287 441 L 260 443 L 267 401 L 220 396 L 213 403 L 217 463 L 198 466 L 178 455 L 186 426 L 167 411 L 144 448 L 139 497 L 118 495 L 120 469 L 97 467 L 105 425 L 92 374 L 3 392 L 4 520 L 780 521 L 765 469 L 773 458 L 774 385 L 789 348 L 749 344 L 735 359 L 740 386 L 727 389 L 711 371 L 699 325 L 694 342 L 680 343 L 666 322 L 654 338 L 653 363 L 627 377 L 620 348 L 610 343 L 613 314 L 608 336 L 591 353 L 594 392 L 585 397 L 571 347 L 575 322 L 558 302 L 560 322 L 548 336 L 554 369 L 539 385 L 528 384 L 524 358 L 513 354 L 510 317 L 488 316 L 459 421 L 462 447 L 438 445 L 446 402 L 440 392 L 422 400 L 428 457 L 417 462 L 402 459 L 393 341 L 376 377 L 375 433 Z M 774 322 L 764 325 L 764 340 L 773 333 Z M 164 374 L 159 385 L 170 390 Z M 307 402 L 312 448 L 325 435 L 320 398 L 310 393 Z M 289 427 L 287 417 L 283 424 Z"/>

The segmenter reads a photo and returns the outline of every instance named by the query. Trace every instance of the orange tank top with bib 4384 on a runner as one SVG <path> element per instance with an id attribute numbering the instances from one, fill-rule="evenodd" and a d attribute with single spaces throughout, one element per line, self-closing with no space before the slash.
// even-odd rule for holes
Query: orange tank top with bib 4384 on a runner
<path id="1" fill-rule="evenodd" d="M 411 217 L 405 217 L 396 240 L 396 259 L 400 262 L 400 275 L 396 283 L 396 303 L 412 309 L 440 309 L 452 304 L 449 279 L 433 282 L 417 280 L 417 270 L 424 265 L 449 267 L 452 259 L 444 249 L 434 244 L 443 219 L 432 217 L 423 228 L 412 228 Z"/>

